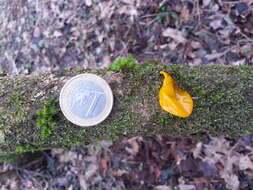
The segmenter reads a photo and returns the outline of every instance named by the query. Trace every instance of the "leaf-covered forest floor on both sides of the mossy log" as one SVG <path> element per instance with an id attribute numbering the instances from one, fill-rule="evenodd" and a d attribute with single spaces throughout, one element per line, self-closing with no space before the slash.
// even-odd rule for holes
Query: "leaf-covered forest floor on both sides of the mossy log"
<path id="1" fill-rule="evenodd" d="M 153 64 L 253 65 L 252 0 L 0 0 L 0 75 Z M 27 153 L 0 189 L 253 189 L 253 136 L 102 141 Z"/>

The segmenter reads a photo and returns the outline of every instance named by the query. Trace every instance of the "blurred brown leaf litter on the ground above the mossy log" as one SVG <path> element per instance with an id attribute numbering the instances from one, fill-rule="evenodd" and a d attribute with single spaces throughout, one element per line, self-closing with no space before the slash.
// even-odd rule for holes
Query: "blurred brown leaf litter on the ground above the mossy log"
<path id="1" fill-rule="evenodd" d="M 0 1 L 0 73 L 106 68 L 129 53 L 163 64 L 252 65 L 252 26 L 250 0 Z"/>

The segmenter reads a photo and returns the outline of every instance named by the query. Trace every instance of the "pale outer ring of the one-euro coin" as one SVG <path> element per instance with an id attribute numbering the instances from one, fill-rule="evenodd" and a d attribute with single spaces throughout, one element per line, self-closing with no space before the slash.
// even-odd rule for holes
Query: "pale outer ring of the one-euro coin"
<path id="1" fill-rule="evenodd" d="M 75 83 L 77 79 L 82 80 L 82 81 L 91 81 L 94 82 L 95 84 L 99 85 L 105 92 L 105 97 L 106 97 L 106 105 L 103 111 L 96 117 L 93 117 L 91 119 L 81 119 L 71 112 L 66 111 L 66 103 L 63 101 L 64 100 L 64 93 L 66 93 L 66 89 L 69 87 L 69 85 Z M 91 74 L 91 73 L 84 73 L 84 74 L 79 74 L 75 77 L 72 77 L 69 79 L 63 86 L 60 92 L 60 108 L 64 116 L 72 123 L 75 125 L 81 126 L 81 127 L 90 127 L 97 125 L 104 121 L 108 115 L 111 113 L 112 107 L 113 107 L 113 94 L 112 94 L 112 89 L 109 86 L 109 84 L 100 76 Z"/>

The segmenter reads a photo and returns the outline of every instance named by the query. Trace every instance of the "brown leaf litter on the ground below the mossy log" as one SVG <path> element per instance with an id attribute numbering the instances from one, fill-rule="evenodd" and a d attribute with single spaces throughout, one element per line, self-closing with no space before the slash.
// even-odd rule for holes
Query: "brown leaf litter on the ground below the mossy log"
<path id="1" fill-rule="evenodd" d="M 30 155 L 31 156 L 31 155 Z M 237 142 L 206 137 L 134 137 L 1 167 L 1 189 L 249 190 L 253 135 Z M 7 178 L 6 178 L 7 176 Z"/>

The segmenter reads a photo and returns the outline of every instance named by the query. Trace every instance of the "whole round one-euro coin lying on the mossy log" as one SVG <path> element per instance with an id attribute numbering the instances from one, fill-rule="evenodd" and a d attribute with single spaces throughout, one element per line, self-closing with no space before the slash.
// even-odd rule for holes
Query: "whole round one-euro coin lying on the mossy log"
<path id="1" fill-rule="evenodd" d="M 94 74 L 71 78 L 60 93 L 60 107 L 64 116 L 82 127 L 94 126 L 105 120 L 112 106 L 110 86 Z"/>

